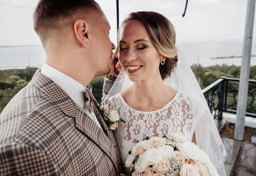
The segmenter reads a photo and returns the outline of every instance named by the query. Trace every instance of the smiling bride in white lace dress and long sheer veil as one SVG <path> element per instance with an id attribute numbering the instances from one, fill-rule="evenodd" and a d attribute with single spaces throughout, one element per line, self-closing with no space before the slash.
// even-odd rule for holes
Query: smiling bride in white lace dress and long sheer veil
<path id="1" fill-rule="evenodd" d="M 105 100 L 126 121 L 114 130 L 123 165 L 137 141 L 178 133 L 225 175 L 222 140 L 192 70 L 178 56 L 172 23 L 155 12 L 130 13 L 119 29 L 118 48 L 123 69 Z"/>

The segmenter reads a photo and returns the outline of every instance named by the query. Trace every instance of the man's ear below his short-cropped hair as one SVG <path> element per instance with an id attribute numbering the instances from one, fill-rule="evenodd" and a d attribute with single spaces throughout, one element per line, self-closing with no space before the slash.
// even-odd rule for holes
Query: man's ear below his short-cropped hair
<path id="1" fill-rule="evenodd" d="M 88 23 L 84 20 L 76 20 L 74 23 L 74 33 L 76 34 L 77 40 L 86 47 L 89 43 Z"/>

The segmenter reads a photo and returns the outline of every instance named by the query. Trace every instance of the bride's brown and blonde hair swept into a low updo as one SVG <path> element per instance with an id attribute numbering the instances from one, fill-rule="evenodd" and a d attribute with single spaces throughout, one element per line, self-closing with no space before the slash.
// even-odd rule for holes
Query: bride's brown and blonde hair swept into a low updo
<path id="1" fill-rule="evenodd" d="M 167 58 L 164 65 L 159 65 L 160 74 L 164 80 L 170 76 L 178 62 L 177 48 L 175 46 L 176 34 L 172 23 L 164 15 L 156 12 L 130 13 L 118 30 L 118 41 L 120 30 L 130 20 L 138 20 L 144 25 L 155 48 Z"/>

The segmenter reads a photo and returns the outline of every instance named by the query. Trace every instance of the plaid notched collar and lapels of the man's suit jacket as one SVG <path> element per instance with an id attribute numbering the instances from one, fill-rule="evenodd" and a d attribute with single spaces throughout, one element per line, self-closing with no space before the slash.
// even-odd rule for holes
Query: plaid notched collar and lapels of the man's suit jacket
<path id="1" fill-rule="evenodd" d="M 99 123 L 101 123 L 101 126 L 107 132 L 107 136 L 103 130 L 101 130 L 101 128 L 99 128 L 96 123 L 94 123 L 93 120 L 84 113 L 82 108 L 79 107 L 63 89 L 61 89 L 61 87 L 47 76 L 41 74 L 40 69 L 38 69 L 34 74 L 31 83 L 56 103 L 66 116 L 75 118 L 75 127 L 94 141 L 99 148 L 101 148 L 107 156 L 111 158 L 117 172 L 116 152 L 112 141 L 109 139 L 112 132 L 108 130 L 102 117 L 99 117 L 101 115 L 99 115 L 97 108 L 94 106 L 94 112 L 96 113 Z"/>

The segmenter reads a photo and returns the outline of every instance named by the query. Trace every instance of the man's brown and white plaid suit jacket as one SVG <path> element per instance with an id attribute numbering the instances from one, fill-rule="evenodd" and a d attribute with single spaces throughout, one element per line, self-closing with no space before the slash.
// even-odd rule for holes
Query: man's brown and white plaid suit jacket
<path id="1" fill-rule="evenodd" d="M 119 175 L 116 141 L 94 112 L 103 130 L 37 70 L 0 115 L 0 175 Z"/>

